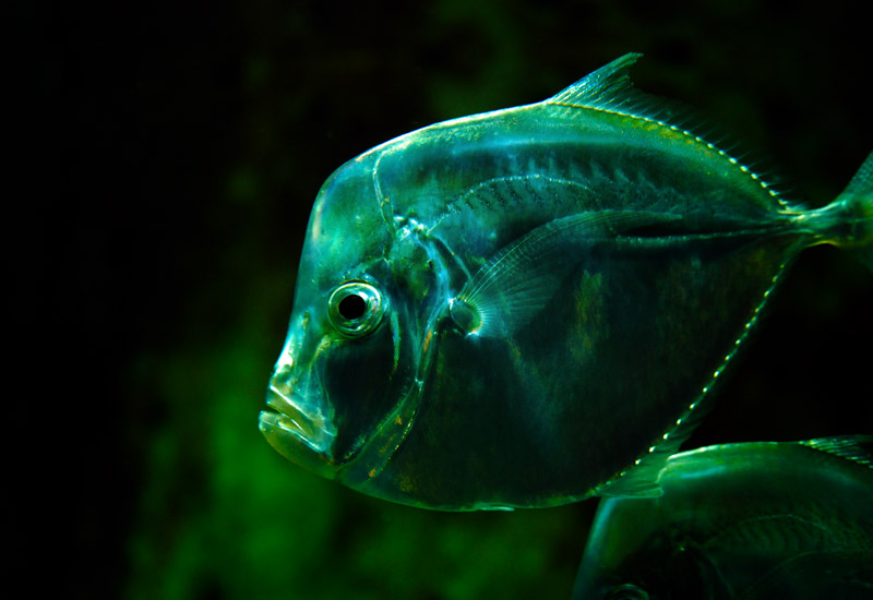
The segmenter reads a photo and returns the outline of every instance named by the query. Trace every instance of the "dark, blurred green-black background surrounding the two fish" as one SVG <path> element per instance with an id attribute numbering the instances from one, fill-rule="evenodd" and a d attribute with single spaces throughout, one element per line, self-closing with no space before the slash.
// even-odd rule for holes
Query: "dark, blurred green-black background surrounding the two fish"
<path id="1" fill-rule="evenodd" d="M 67 598 L 569 597 L 596 501 L 406 508 L 262 440 L 309 209 L 348 158 L 631 50 L 641 88 L 772 157 L 792 199 L 829 202 L 873 146 L 870 20 L 845 0 L 16 10 L 46 196 L 15 293 L 48 325 L 22 353 L 52 365 L 36 396 L 56 415 L 26 470 Z M 805 252 L 689 446 L 871 432 L 871 307 L 850 256 Z"/>

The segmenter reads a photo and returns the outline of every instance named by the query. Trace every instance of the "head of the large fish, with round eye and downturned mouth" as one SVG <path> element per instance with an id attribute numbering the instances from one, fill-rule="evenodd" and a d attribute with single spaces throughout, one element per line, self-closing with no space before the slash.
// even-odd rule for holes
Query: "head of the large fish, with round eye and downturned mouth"
<path id="1" fill-rule="evenodd" d="M 364 155 L 318 194 L 260 416 L 279 454 L 340 481 L 415 381 L 406 304 L 388 260 L 394 229 L 372 173 Z"/>

